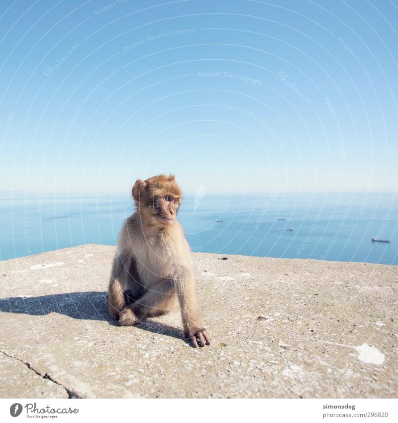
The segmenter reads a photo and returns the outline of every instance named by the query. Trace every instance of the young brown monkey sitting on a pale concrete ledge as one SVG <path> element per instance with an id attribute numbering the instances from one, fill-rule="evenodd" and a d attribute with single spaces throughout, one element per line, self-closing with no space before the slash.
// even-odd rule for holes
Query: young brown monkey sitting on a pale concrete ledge
<path id="1" fill-rule="evenodd" d="M 200 323 L 191 250 L 177 221 L 181 189 L 174 176 L 137 179 L 136 212 L 126 219 L 108 286 L 109 314 L 122 326 L 160 316 L 178 299 L 185 338 L 194 347 L 209 345 Z"/>

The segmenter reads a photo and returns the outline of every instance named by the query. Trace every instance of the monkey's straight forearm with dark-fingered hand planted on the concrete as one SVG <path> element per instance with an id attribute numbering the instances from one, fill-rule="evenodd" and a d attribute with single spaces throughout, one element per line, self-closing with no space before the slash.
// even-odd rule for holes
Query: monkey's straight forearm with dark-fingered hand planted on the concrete
<path id="1" fill-rule="evenodd" d="M 181 308 L 181 317 L 184 327 L 184 337 L 191 339 L 193 346 L 210 345 L 210 337 L 203 328 L 198 311 L 195 292 L 195 278 L 191 269 L 179 267 L 173 272 L 178 300 Z"/>

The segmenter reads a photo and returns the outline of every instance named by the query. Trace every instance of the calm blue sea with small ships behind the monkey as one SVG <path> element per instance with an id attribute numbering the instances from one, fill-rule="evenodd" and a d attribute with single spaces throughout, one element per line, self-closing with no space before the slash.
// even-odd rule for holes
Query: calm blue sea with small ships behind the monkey
<path id="1" fill-rule="evenodd" d="M 398 265 L 397 193 L 201 197 L 186 197 L 179 213 L 193 251 Z M 114 245 L 132 211 L 122 197 L 2 199 L 0 259 Z"/>

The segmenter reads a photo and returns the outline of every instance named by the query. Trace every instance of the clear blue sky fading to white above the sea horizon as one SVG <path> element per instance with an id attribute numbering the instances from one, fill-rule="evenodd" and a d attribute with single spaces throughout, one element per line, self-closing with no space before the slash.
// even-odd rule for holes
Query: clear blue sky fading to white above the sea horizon
<path id="1" fill-rule="evenodd" d="M 0 190 L 398 189 L 397 1 L 3 1 Z"/>

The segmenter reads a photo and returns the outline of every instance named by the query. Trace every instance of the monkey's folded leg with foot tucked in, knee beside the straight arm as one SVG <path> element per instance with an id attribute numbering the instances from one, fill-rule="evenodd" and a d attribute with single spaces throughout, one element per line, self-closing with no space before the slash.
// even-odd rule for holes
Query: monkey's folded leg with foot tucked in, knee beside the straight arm
<path id="1" fill-rule="evenodd" d="M 133 304 L 123 308 L 119 323 L 122 326 L 133 326 L 140 323 L 145 317 L 160 316 L 169 311 L 174 302 L 174 283 L 168 278 L 162 279 L 154 283 Z"/>

